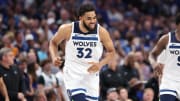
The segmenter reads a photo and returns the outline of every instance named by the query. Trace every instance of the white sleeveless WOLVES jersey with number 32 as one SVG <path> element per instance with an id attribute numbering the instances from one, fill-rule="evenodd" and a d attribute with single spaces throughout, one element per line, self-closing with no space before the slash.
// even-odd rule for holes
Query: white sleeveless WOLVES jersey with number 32
<path id="1" fill-rule="evenodd" d="M 75 73 L 87 73 L 88 62 L 99 62 L 103 46 L 99 37 L 99 24 L 95 30 L 84 34 L 79 22 L 72 23 L 72 31 L 65 47 L 65 69 Z"/>

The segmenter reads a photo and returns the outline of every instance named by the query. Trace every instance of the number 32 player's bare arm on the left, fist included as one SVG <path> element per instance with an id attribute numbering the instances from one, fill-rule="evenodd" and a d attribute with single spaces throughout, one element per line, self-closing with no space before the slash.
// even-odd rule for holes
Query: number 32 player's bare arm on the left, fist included
<path id="1" fill-rule="evenodd" d="M 55 66 L 60 66 L 62 63 L 61 57 L 58 55 L 58 45 L 63 40 L 68 40 L 71 33 L 71 24 L 61 25 L 56 32 L 56 34 L 52 37 L 49 44 L 49 52 Z"/>

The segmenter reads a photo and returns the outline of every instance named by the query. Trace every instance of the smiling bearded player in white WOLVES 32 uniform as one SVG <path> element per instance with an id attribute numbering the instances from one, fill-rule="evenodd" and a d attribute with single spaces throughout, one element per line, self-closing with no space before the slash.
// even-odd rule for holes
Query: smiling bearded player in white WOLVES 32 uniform
<path id="1" fill-rule="evenodd" d="M 79 21 L 60 26 L 49 50 L 53 63 L 60 65 L 58 44 L 66 41 L 64 82 L 71 100 L 98 101 L 99 70 L 112 59 L 115 49 L 108 31 L 97 23 L 93 5 L 81 5 L 78 13 Z M 107 54 L 101 59 L 103 46 Z"/>

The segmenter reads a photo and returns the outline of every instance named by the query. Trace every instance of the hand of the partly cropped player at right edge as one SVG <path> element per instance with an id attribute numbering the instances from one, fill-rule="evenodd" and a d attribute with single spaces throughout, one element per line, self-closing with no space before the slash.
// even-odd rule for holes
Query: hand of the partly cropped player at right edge
<path id="1" fill-rule="evenodd" d="M 163 74 L 163 68 L 164 68 L 164 65 L 161 64 L 161 63 L 156 63 L 154 65 L 154 75 L 155 76 L 161 76 Z"/>

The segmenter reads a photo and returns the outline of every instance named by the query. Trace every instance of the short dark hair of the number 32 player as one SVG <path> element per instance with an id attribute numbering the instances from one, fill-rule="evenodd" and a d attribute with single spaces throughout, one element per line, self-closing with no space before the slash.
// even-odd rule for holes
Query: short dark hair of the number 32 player
<path id="1" fill-rule="evenodd" d="M 90 11 L 95 11 L 95 7 L 91 3 L 82 4 L 78 10 L 78 17 Z"/>

